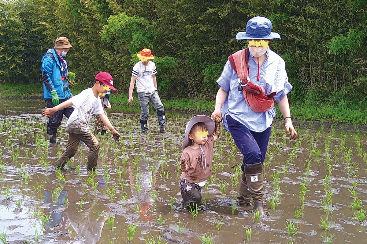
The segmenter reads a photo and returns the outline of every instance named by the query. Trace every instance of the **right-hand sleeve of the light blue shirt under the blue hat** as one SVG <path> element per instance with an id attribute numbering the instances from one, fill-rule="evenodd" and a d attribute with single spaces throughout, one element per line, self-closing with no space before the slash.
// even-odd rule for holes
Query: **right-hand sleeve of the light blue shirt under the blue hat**
<path id="1" fill-rule="evenodd" d="M 274 79 L 274 86 L 277 91 L 274 96 L 276 102 L 280 102 L 285 95 L 287 95 L 293 88 L 293 86 L 288 81 L 288 75 L 286 71 L 286 63 L 283 59 L 279 60 L 277 71 Z"/>

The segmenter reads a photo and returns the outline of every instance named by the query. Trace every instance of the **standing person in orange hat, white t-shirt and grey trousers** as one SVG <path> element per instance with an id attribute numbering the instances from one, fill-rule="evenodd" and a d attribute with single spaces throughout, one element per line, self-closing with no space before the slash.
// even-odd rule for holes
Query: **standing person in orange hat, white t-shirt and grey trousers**
<path id="1" fill-rule="evenodd" d="M 148 48 L 144 48 L 141 53 L 137 54 L 141 60 L 134 65 L 131 72 L 131 81 L 129 87 L 129 105 L 133 100 L 132 91 L 134 90 L 135 80 L 137 82 L 137 94 L 141 107 L 140 128 L 141 132 L 147 132 L 147 124 L 149 118 L 149 102 L 152 102 L 153 107 L 157 110 L 158 123 L 160 133 L 166 132 L 166 115 L 164 106 L 160 100 L 157 89 L 157 69 L 152 52 Z"/>

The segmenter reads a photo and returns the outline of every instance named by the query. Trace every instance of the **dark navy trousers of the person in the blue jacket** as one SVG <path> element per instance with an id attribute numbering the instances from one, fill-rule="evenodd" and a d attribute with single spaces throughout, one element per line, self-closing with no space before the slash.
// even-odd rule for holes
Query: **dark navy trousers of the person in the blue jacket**
<path id="1" fill-rule="evenodd" d="M 70 98 L 60 99 L 59 101 L 60 101 L 60 103 L 62 103 L 62 102 L 65 102 L 65 101 L 69 100 Z M 52 100 L 50 98 L 45 99 L 45 104 L 46 104 L 46 108 L 53 108 L 54 106 L 56 106 L 52 103 Z M 70 115 L 72 114 L 73 111 L 74 111 L 74 108 L 67 107 L 67 108 L 64 108 L 64 109 L 61 109 L 61 110 L 57 111 L 56 113 L 54 113 L 53 115 L 48 117 L 47 134 L 48 135 L 56 135 L 57 129 L 61 125 L 63 115 L 65 115 L 69 119 L 69 117 L 70 117 Z"/>

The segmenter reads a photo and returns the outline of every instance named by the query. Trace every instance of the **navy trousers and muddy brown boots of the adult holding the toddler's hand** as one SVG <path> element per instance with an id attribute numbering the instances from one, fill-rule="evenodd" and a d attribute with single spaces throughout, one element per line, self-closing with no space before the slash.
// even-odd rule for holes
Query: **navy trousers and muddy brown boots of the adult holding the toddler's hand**
<path id="1" fill-rule="evenodd" d="M 226 120 L 233 140 L 243 154 L 241 166 L 243 175 L 237 196 L 238 203 L 239 205 L 249 205 L 252 197 L 254 208 L 259 210 L 261 215 L 264 215 L 262 163 L 268 149 L 271 127 L 262 132 L 255 132 L 229 115 L 226 116 Z"/>

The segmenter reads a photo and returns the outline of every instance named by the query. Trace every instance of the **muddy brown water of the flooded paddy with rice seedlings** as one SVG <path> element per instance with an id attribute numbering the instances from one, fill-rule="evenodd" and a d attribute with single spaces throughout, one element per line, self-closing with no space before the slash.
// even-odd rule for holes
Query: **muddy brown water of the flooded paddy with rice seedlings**
<path id="1" fill-rule="evenodd" d="M 48 145 L 43 102 L 1 103 L 0 231 L 9 243 L 127 243 L 128 225 L 137 225 L 132 243 L 146 243 L 152 235 L 168 243 L 199 244 L 204 234 L 212 235 L 213 243 L 366 242 L 367 221 L 358 221 L 357 210 L 349 207 L 353 198 L 361 200 L 360 210 L 367 205 L 367 140 L 361 127 L 302 122 L 297 123 L 301 138 L 289 140 L 282 125 L 273 124 L 265 159 L 267 216 L 254 223 L 251 209 L 232 214 L 241 172 L 231 167 L 241 163 L 241 155 L 223 131 L 215 147 L 217 172 L 203 188 L 202 209 L 197 218 L 183 209 L 177 161 L 191 115 L 169 113 L 162 136 L 155 115 L 149 133 L 140 135 L 139 110 L 112 112 L 122 136 L 118 143 L 110 134 L 99 138 L 97 174 L 87 173 L 88 149 L 81 145 L 58 175 L 53 165 L 67 134 L 60 129 L 58 144 Z M 225 182 L 221 191 L 218 183 Z M 279 203 L 273 210 L 271 199 Z M 301 209 L 298 218 L 295 209 Z M 328 219 L 330 230 L 320 227 L 320 217 Z M 218 220 L 220 230 L 213 226 Z M 288 234 L 287 221 L 299 233 Z M 246 228 L 252 230 L 250 240 Z"/>

